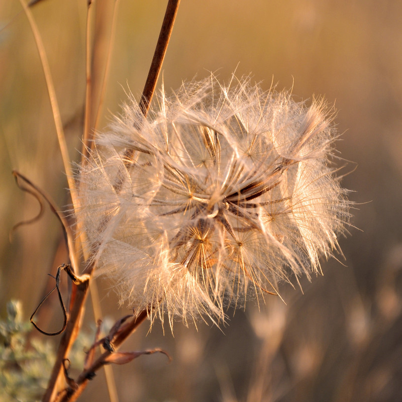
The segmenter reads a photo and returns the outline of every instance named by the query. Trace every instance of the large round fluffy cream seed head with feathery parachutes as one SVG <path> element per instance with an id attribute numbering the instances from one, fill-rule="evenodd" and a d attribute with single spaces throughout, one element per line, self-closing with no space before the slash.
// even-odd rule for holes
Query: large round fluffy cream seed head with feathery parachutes
<path id="1" fill-rule="evenodd" d="M 249 79 L 163 88 L 148 118 L 134 99 L 79 169 L 97 273 L 152 318 L 224 319 L 229 305 L 321 271 L 349 202 L 331 166 L 336 133 L 310 107 Z"/>

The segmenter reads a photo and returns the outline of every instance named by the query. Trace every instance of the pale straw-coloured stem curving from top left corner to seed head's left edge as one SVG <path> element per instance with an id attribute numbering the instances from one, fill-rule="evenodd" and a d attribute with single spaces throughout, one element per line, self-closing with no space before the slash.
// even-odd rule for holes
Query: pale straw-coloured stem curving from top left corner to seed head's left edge
<path id="1" fill-rule="evenodd" d="M 56 98 L 56 91 L 54 89 L 53 79 L 52 79 L 52 75 L 50 73 L 49 61 L 47 59 L 46 51 L 45 51 L 45 48 L 44 48 L 43 42 L 42 42 L 42 38 L 39 33 L 38 27 L 35 23 L 35 20 L 32 16 L 31 10 L 27 6 L 27 4 L 24 2 L 24 0 L 20 0 L 20 3 L 22 5 L 22 7 L 24 8 L 25 15 L 28 18 L 32 33 L 35 38 L 35 43 L 38 48 L 39 57 L 41 59 L 43 73 L 45 75 L 45 80 L 46 80 L 46 86 L 47 86 L 47 90 L 49 92 L 49 100 L 50 100 L 50 105 L 52 107 L 53 119 L 54 119 L 54 124 L 56 126 L 57 139 L 59 142 L 64 170 L 65 170 L 66 176 L 67 176 L 67 182 L 68 182 L 68 187 L 70 189 L 72 204 L 75 206 L 75 205 L 77 205 L 76 204 L 77 191 L 75 188 L 75 183 L 74 183 L 73 174 L 72 174 L 72 170 L 71 170 L 71 165 L 70 165 L 71 159 L 68 155 L 68 149 L 67 149 L 67 144 L 66 144 L 64 130 L 63 130 L 63 123 L 61 121 L 60 110 L 59 110 L 59 106 L 58 106 L 57 98 Z"/>

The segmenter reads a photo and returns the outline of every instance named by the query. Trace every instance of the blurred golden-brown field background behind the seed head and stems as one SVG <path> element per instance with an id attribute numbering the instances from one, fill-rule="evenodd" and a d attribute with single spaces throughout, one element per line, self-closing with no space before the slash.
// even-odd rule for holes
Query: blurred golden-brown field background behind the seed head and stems
<path id="1" fill-rule="evenodd" d="M 105 66 L 114 4 L 97 5 L 95 77 Z M 120 1 L 99 129 L 119 113 L 127 91 L 141 94 L 165 6 Z M 48 209 L 37 223 L 14 231 L 10 242 L 13 226 L 39 211 L 11 171 L 27 175 L 60 209 L 69 198 L 40 59 L 21 10 L 17 0 L 0 2 L 0 314 L 18 298 L 29 318 L 47 273 L 66 255 Z M 86 2 L 47 0 L 32 12 L 77 161 Z M 296 100 L 325 96 L 338 111 L 337 149 L 351 161 L 342 183 L 352 190 L 358 229 L 340 239 L 345 258 L 323 261 L 324 276 L 312 283 L 302 279 L 304 294 L 282 286 L 286 305 L 270 296 L 260 312 L 252 304 L 234 316 L 229 312 L 221 329 L 176 323 L 174 337 L 168 328 L 163 335 L 160 324 L 148 333 L 144 324 L 122 350 L 161 347 L 173 361 L 142 356 L 114 367 L 120 401 L 402 400 L 401 16 L 396 0 L 182 1 L 163 66 L 165 88 L 210 71 L 227 81 L 236 69 L 238 76 L 251 73 L 264 89 L 272 82 L 278 90 L 291 89 Z M 116 320 L 128 314 L 118 309 L 111 283 L 96 282 L 103 315 Z M 43 309 L 41 322 L 55 330 L 52 325 L 62 322 L 56 296 Z M 92 323 L 88 299 L 84 328 L 90 331 Z M 80 400 L 109 400 L 103 373 Z"/>

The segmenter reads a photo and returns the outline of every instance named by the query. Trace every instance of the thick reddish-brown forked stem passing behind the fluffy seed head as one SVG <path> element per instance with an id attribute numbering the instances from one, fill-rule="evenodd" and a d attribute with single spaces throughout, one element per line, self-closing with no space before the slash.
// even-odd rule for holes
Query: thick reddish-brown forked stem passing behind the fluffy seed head
<path id="1" fill-rule="evenodd" d="M 155 54 L 152 60 L 152 64 L 148 73 L 148 78 L 141 97 L 140 107 L 144 113 L 144 116 L 146 116 L 148 113 L 149 103 L 151 102 L 153 93 L 155 91 L 156 83 L 159 77 L 162 62 L 170 39 L 170 34 L 173 28 L 175 16 L 177 14 L 178 5 L 179 0 L 169 0 L 167 5 L 165 17 L 161 27 L 161 32 L 155 49 Z M 88 108 L 88 104 L 86 104 L 86 108 Z M 121 180 L 121 178 L 118 177 L 118 180 Z M 73 198 L 73 202 L 75 199 Z M 94 268 L 95 265 L 90 264 L 87 270 L 88 274 L 85 274 L 82 277 L 74 276 L 75 280 L 73 280 L 73 288 L 72 288 L 71 302 L 69 309 L 70 313 L 68 315 L 67 327 L 60 341 L 56 362 L 53 367 L 48 388 L 42 399 L 44 402 L 50 402 L 56 400 L 55 398 L 57 397 L 58 389 L 60 389 L 61 387 L 60 382 L 62 380 L 62 374 L 63 374 L 63 367 L 64 367 L 63 362 L 67 358 L 69 350 L 79 332 L 80 321 L 81 321 L 80 318 L 83 315 L 84 302 L 87 295 L 87 291 L 89 289 L 89 280 Z M 133 319 L 129 323 L 129 325 L 125 326 L 124 330 L 119 333 L 119 336 L 114 341 L 115 348 L 118 348 L 123 343 L 123 341 L 133 333 L 133 331 L 145 320 L 147 314 L 148 313 L 146 310 L 142 311 L 139 315 L 137 315 L 136 319 Z M 107 351 L 104 353 L 104 355 L 106 356 L 107 354 L 110 353 L 111 352 Z M 104 355 L 99 357 L 99 359 L 96 361 L 98 363 L 96 362 L 94 363 L 95 367 L 91 368 L 92 371 L 105 364 Z M 103 363 L 100 364 L 100 362 L 102 361 Z M 96 364 L 98 364 L 99 367 L 97 367 Z M 76 400 L 76 398 L 79 396 L 79 394 L 82 392 L 82 390 L 85 388 L 87 384 L 88 378 L 87 376 L 85 378 L 84 377 L 85 375 L 83 377 L 80 376 L 78 378 L 78 381 L 76 382 L 78 385 L 77 389 L 73 390 L 72 393 L 70 388 L 64 389 L 60 393 L 61 398 L 57 397 L 57 400 L 63 400 L 63 401 Z"/>

